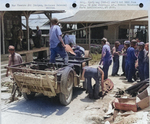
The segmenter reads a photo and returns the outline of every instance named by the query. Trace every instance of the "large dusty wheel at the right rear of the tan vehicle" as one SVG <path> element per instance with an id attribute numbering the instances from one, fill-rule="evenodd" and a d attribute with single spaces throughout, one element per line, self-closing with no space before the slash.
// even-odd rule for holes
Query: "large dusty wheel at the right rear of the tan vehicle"
<path id="1" fill-rule="evenodd" d="M 62 105 L 68 105 L 72 100 L 73 78 L 72 68 L 66 67 L 61 77 L 61 93 L 59 94 L 59 100 Z"/>

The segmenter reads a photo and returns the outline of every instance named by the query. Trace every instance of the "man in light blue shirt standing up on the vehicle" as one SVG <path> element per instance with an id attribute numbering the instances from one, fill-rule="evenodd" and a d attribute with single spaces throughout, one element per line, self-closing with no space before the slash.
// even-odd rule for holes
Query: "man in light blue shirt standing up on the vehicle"
<path id="1" fill-rule="evenodd" d="M 62 39 L 62 32 L 60 27 L 57 25 L 58 20 L 56 18 L 51 19 L 52 27 L 50 29 L 50 62 L 55 63 L 55 57 L 59 54 L 63 59 L 64 63 L 68 63 L 68 55 L 65 51 L 65 44 Z"/>

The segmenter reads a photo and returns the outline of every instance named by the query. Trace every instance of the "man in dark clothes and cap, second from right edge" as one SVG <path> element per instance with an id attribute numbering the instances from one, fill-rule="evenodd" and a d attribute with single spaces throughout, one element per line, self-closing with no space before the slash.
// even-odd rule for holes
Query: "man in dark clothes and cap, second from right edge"
<path id="1" fill-rule="evenodd" d="M 144 42 L 139 42 L 139 56 L 138 56 L 138 70 L 140 81 L 144 80 L 144 55 L 146 50 L 144 49 Z"/>

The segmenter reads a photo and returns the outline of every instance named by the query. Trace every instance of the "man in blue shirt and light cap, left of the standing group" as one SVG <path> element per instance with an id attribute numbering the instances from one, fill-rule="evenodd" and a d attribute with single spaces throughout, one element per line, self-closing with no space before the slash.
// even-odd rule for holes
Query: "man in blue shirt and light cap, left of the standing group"
<path id="1" fill-rule="evenodd" d="M 100 65 L 103 64 L 103 71 L 104 71 L 104 80 L 108 78 L 108 70 L 109 66 L 112 63 L 112 57 L 111 57 L 111 50 L 110 46 L 106 44 L 107 39 L 103 38 L 101 39 L 103 48 L 102 48 L 102 57 L 100 61 Z"/>

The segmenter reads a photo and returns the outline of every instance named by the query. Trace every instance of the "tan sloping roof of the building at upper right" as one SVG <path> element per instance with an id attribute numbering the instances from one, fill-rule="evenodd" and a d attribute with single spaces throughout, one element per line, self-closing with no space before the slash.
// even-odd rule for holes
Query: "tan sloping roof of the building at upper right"
<path id="1" fill-rule="evenodd" d="M 96 23 L 123 21 L 148 16 L 146 10 L 81 10 L 74 16 L 60 19 L 61 23 Z"/>

